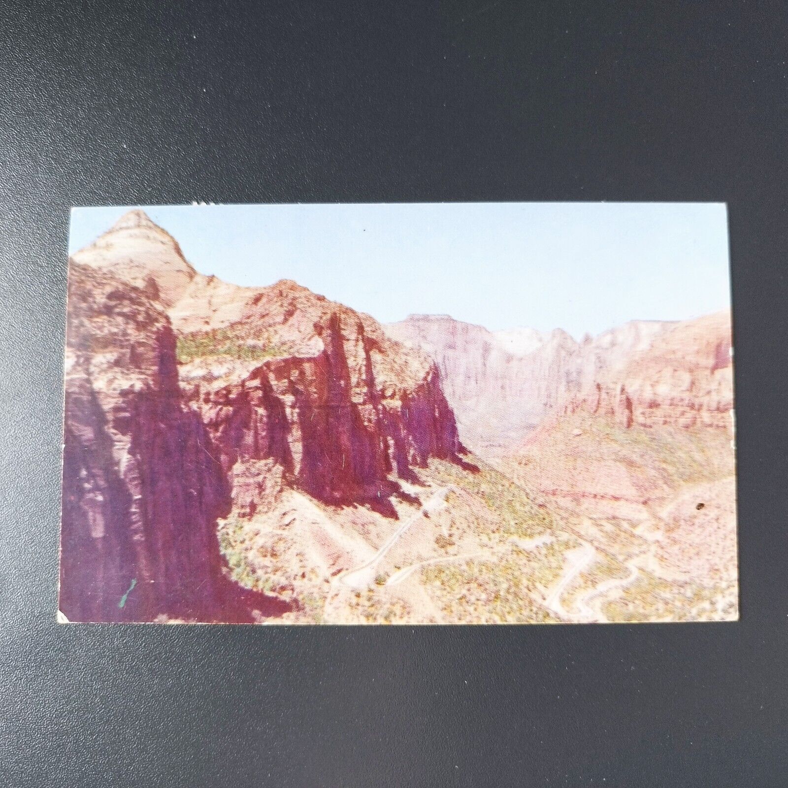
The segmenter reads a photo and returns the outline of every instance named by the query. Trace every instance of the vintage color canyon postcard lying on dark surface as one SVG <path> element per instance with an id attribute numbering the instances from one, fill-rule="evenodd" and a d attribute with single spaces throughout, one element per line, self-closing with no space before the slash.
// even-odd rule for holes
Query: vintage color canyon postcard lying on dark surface
<path id="1" fill-rule="evenodd" d="M 727 212 L 75 208 L 61 622 L 738 619 Z"/>

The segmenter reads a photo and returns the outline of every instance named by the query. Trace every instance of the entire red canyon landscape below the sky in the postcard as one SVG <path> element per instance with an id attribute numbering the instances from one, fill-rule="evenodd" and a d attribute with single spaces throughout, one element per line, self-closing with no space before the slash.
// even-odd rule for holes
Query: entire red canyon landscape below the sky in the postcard
<path id="1" fill-rule="evenodd" d="M 61 615 L 738 615 L 730 315 L 575 341 L 206 277 L 132 210 L 69 261 Z"/>

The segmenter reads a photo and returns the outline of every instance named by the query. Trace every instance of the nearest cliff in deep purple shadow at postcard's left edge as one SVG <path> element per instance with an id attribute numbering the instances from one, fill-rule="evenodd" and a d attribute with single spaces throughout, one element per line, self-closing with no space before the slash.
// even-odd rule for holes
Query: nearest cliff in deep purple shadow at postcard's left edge
<path id="1" fill-rule="evenodd" d="M 72 263 L 67 331 L 61 611 L 247 620 L 216 537 L 229 485 L 181 400 L 169 319 L 139 289 Z"/>

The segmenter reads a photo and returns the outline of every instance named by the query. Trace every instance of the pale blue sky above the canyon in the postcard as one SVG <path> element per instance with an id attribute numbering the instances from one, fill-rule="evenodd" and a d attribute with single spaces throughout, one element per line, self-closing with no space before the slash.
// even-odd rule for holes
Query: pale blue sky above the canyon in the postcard
<path id="1" fill-rule="evenodd" d="M 381 322 L 411 313 L 575 337 L 730 304 L 723 203 L 143 206 L 201 273 L 294 279 Z M 128 207 L 75 208 L 69 251 Z"/>

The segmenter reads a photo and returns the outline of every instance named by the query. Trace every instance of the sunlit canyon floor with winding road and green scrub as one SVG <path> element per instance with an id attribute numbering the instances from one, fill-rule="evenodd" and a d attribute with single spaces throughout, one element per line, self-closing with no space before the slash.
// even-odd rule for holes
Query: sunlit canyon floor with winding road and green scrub
<path id="1" fill-rule="evenodd" d="M 221 548 L 238 582 L 294 605 L 275 619 L 283 623 L 735 619 L 732 468 L 719 478 L 693 456 L 708 454 L 708 443 L 678 433 L 661 485 L 650 478 L 652 457 L 633 468 L 627 450 L 630 488 L 639 485 L 633 496 L 620 486 L 552 489 L 544 467 L 529 483 L 522 466 L 549 463 L 557 473 L 563 463 L 562 478 L 571 478 L 567 456 L 556 452 L 564 440 L 574 440 L 575 460 L 583 461 L 581 442 L 598 457 L 600 435 L 589 423 L 587 438 L 575 435 L 578 423 L 562 425 L 566 436 L 517 463 L 431 460 L 418 469 L 418 483 L 403 485 L 412 498 L 396 502 L 396 520 L 282 491 L 270 511 L 222 522 Z M 608 454 L 631 440 L 607 432 Z M 646 447 L 649 438 L 641 436 Z M 715 449 L 724 464 L 730 452 Z M 614 459 L 602 462 L 619 473 Z"/>

